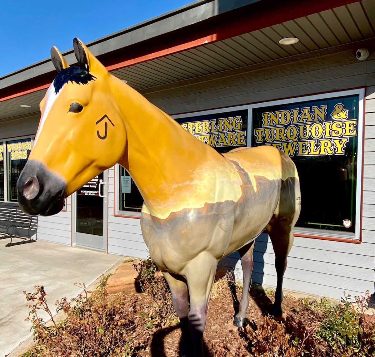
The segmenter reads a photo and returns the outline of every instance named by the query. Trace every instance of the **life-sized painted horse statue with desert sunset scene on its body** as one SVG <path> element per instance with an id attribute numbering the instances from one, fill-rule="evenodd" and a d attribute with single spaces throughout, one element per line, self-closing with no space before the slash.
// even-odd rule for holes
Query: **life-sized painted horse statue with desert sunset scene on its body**
<path id="1" fill-rule="evenodd" d="M 142 235 L 172 292 L 181 355 L 202 356 L 217 263 L 237 250 L 244 293 L 234 325 L 247 324 L 254 240 L 264 229 L 276 255 L 272 314 L 281 316 L 283 275 L 300 213 L 293 161 L 270 146 L 221 155 L 111 75 L 77 38 L 74 52 L 79 67 L 69 67 L 51 49 L 58 75 L 40 102 L 34 146 L 17 182 L 22 210 L 56 214 L 65 197 L 119 163 L 144 198 Z"/>

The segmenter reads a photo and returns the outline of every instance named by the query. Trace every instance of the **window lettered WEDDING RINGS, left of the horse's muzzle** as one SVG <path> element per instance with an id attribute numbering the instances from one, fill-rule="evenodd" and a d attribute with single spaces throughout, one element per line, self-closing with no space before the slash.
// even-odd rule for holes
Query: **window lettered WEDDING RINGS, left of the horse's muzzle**
<path id="1" fill-rule="evenodd" d="M 8 161 L 8 199 L 17 202 L 17 180 L 25 167 L 31 151 L 31 140 L 21 139 L 6 142 Z"/>

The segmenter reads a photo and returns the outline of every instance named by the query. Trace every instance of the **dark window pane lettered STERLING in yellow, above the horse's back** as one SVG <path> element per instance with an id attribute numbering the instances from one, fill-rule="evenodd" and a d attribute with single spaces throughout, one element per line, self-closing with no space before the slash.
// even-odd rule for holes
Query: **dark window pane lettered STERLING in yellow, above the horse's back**
<path id="1" fill-rule="evenodd" d="M 247 146 L 248 110 L 175 119 L 190 134 L 219 152 Z"/>

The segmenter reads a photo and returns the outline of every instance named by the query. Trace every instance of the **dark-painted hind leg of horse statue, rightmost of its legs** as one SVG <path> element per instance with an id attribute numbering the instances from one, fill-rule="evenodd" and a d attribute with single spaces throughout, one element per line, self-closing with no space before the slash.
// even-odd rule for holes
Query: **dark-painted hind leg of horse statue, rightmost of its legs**
<path id="1" fill-rule="evenodd" d="M 282 284 L 288 263 L 288 254 L 293 245 L 293 228 L 300 214 L 300 188 L 297 179 L 283 182 L 278 207 L 266 227 L 275 252 L 277 285 L 272 315 L 282 316 L 281 303 L 284 299 Z"/>

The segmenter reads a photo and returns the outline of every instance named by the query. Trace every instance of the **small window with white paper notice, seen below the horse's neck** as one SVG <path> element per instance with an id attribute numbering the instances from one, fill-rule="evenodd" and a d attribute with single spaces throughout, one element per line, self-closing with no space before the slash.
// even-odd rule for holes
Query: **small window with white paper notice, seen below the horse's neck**
<path id="1" fill-rule="evenodd" d="M 120 166 L 120 211 L 141 212 L 143 198 L 129 173 Z"/>

